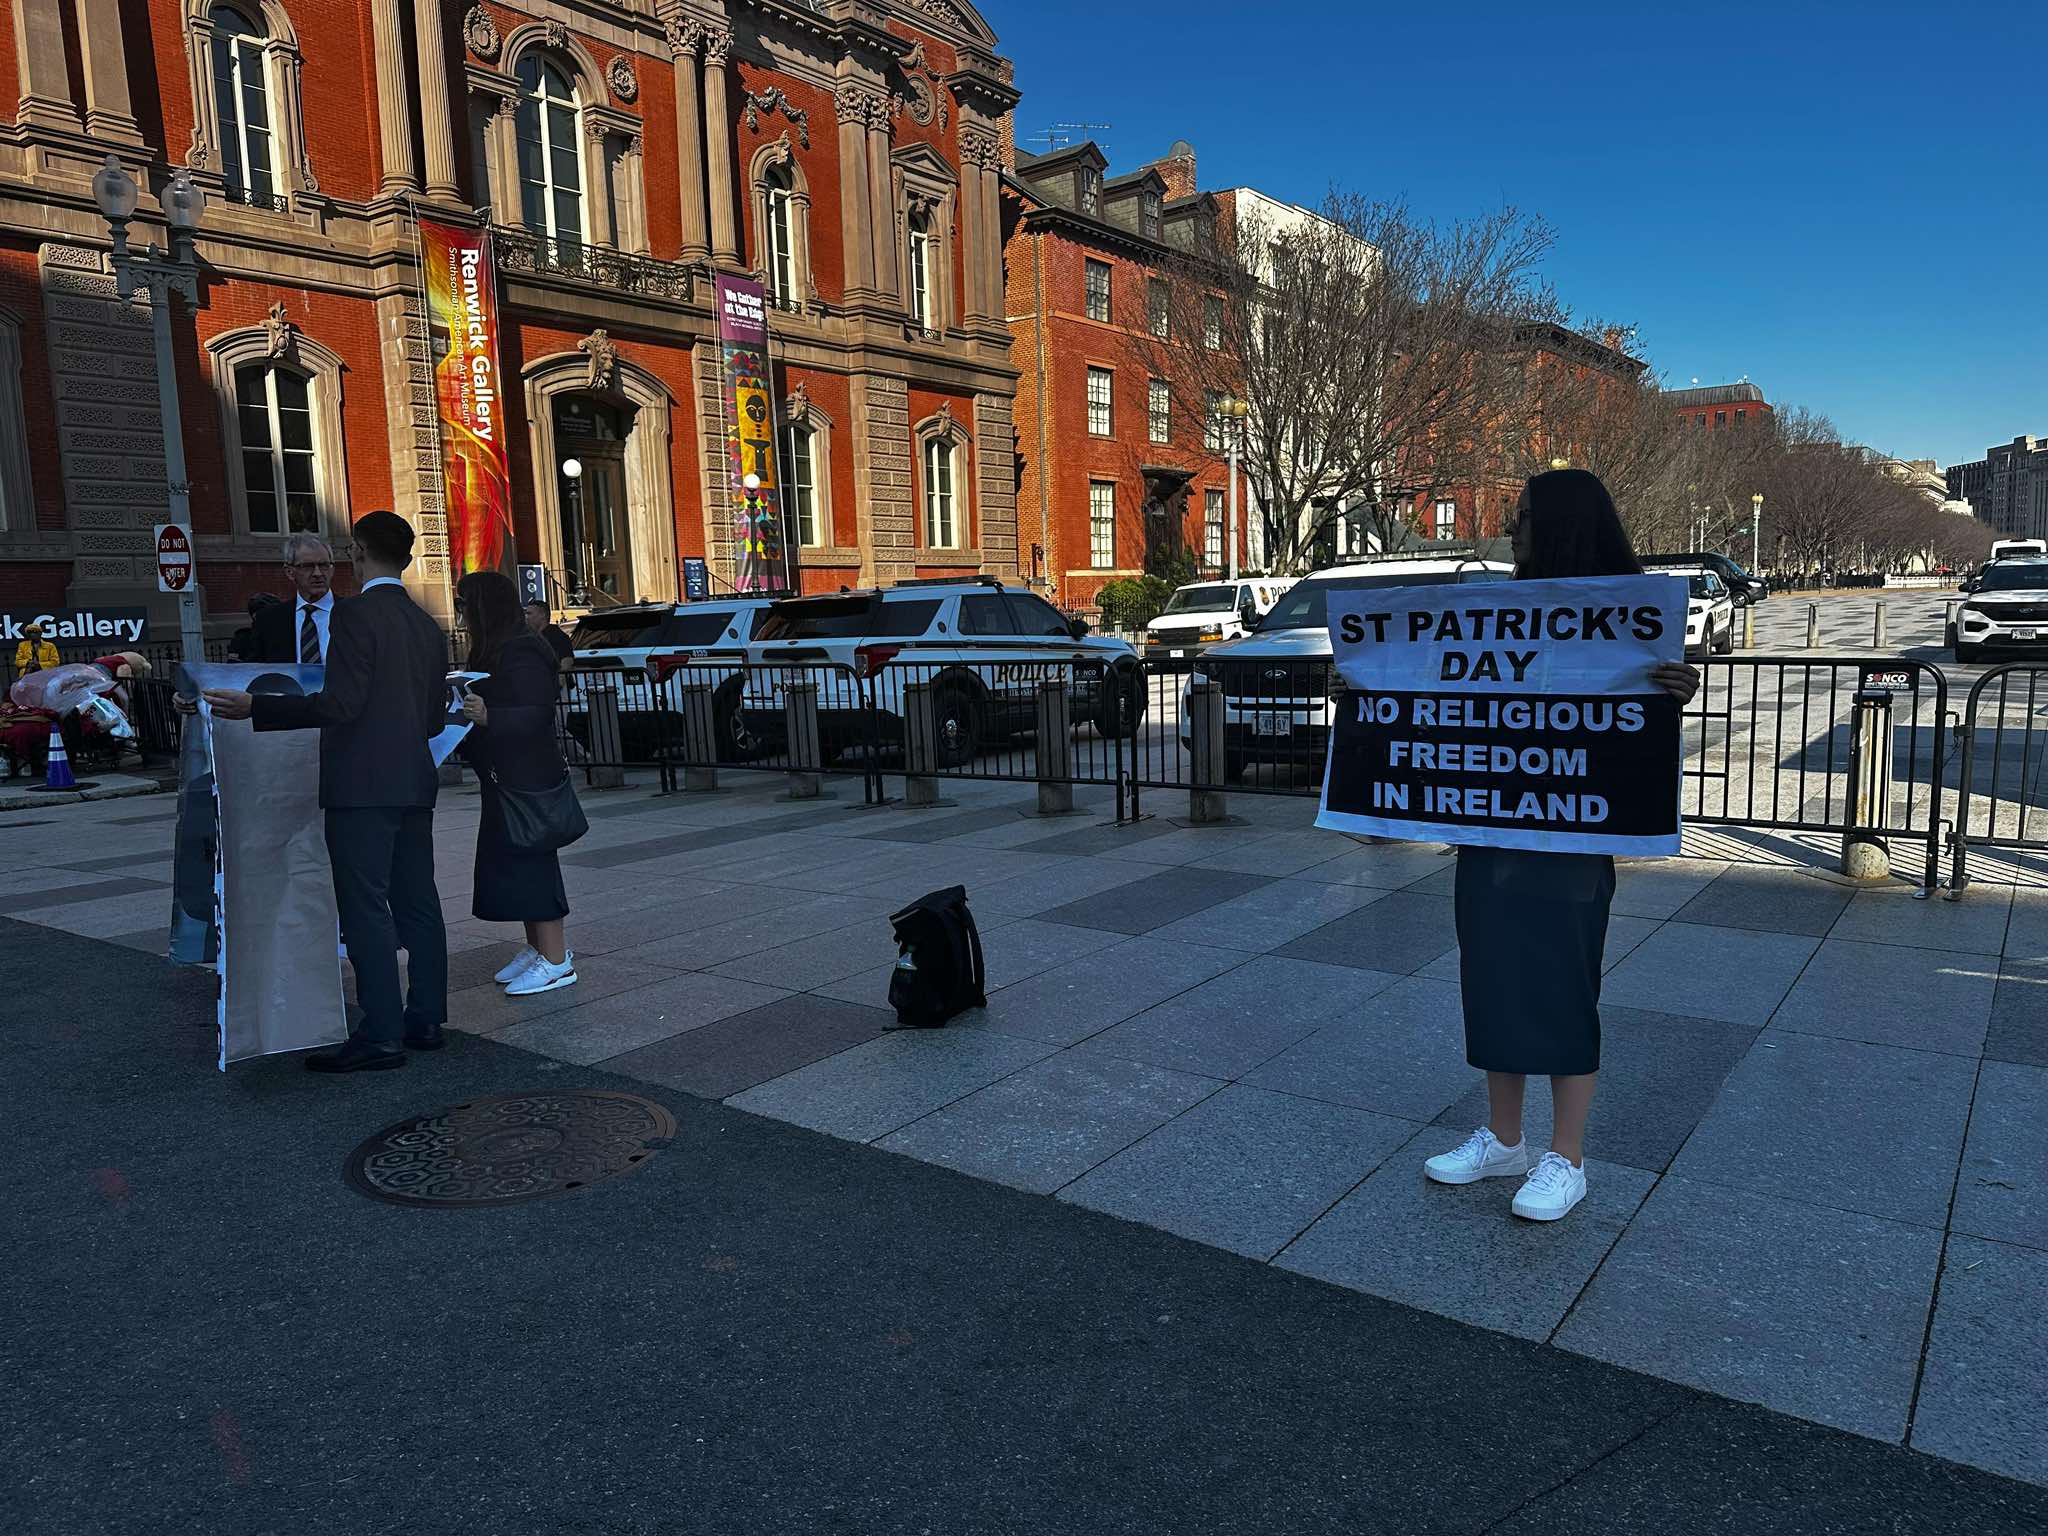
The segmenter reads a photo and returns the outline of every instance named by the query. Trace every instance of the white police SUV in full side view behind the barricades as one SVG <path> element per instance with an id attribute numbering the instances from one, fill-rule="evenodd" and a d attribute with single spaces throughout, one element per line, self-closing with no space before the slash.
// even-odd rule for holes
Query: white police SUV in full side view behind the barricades
<path id="1" fill-rule="evenodd" d="M 993 575 L 784 598 L 756 629 L 748 662 L 739 729 L 762 743 L 782 741 L 784 682 L 813 682 L 827 762 L 864 739 L 868 702 L 877 737 L 901 741 L 903 690 L 913 682 L 932 688 L 938 756 L 948 768 L 1034 729 L 1040 682 L 1069 684 L 1077 725 L 1128 735 L 1145 709 L 1130 645 L 1090 635 L 1083 621 Z"/>

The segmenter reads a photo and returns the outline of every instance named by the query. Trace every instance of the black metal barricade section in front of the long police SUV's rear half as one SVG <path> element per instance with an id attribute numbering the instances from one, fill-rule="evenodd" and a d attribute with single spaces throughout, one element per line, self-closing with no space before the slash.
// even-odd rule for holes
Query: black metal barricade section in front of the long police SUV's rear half
<path id="1" fill-rule="evenodd" d="M 860 774 L 860 797 L 883 805 L 874 705 L 840 662 L 748 662 L 688 651 L 647 657 L 649 711 L 662 788 L 717 786 L 723 770 L 780 772 L 811 799 L 831 774 Z"/>

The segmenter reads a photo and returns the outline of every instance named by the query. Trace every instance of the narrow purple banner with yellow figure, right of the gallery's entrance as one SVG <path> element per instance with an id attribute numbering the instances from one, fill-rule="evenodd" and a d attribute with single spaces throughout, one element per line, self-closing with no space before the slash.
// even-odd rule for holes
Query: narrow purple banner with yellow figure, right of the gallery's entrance
<path id="1" fill-rule="evenodd" d="M 793 592 L 797 586 L 782 526 L 782 479 L 776 473 L 774 397 L 768 373 L 768 303 L 762 285 L 741 276 L 715 281 L 719 360 L 725 381 L 725 469 L 731 506 L 733 586 L 739 592 Z"/>

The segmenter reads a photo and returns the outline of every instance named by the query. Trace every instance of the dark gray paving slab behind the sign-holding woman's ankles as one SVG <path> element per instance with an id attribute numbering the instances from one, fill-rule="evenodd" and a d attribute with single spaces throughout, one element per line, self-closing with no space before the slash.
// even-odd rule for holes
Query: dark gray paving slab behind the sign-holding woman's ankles
<path id="1" fill-rule="evenodd" d="M 1587 1145 L 1610 1163 L 1663 1171 L 1720 1094 L 1757 1030 L 1712 1018 L 1651 1014 L 1640 1008 L 1599 1010 L 1599 1087 L 1587 1118 Z M 1487 1083 L 1438 1116 L 1448 1130 L 1487 1120 Z M 1522 1106 L 1530 1147 L 1550 1145 L 1550 1079 L 1532 1077 Z"/>

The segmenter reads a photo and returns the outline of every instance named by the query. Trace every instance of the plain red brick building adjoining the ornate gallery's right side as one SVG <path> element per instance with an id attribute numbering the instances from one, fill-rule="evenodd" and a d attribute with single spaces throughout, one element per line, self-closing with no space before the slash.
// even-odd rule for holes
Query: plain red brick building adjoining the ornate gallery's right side
<path id="1" fill-rule="evenodd" d="M 1174 358 L 1163 274 L 1186 268 L 1219 217 L 1194 188 L 1192 150 L 1122 176 L 1094 143 L 1020 154 L 1004 211 L 1026 569 L 1071 608 L 1171 547 L 1221 569 L 1221 426 L 1161 377 Z"/>

